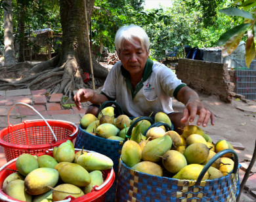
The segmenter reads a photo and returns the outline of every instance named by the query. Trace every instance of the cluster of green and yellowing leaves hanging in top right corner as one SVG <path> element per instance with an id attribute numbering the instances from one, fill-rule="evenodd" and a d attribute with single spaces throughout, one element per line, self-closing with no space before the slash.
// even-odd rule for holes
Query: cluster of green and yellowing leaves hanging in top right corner
<path id="1" fill-rule="evenodd" d="M 238 47 L 242 37 L 244 37 L 245 33 L 247 33 L 247 41 L 245 45 L 245 64 L 249 68 L 251 61 L 253 58 L 255 58 L 256 52 L 254 39 L 256 34 L 256 1 L 238 0 L 233 5 L 236 7 L 221 9 L 220 12 L 223 12 L 228 16 L 240 16 L 244 18 L 244 23 L 223 33 L 223 35 L 219 37 L 217 44 L 224 44 L 222 56 L 228 56 L 236 49 L 236 47 Z"/>

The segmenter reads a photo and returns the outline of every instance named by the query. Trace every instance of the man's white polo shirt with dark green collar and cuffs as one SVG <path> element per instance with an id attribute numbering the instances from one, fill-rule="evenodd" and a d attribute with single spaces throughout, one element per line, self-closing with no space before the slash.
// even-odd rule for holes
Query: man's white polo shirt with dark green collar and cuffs
<path id="1" fill-rule="evenodd" d="M 171 69 L 148 59 L 142 81 L 133 89 L 129 71 L 117 62 L 108 73 L 102 94 L 116 100 L 127 115 L 139 117 L 155 115 L 158 111 L 173 112 L 171 97 L 176 97 L 184 86 Z"/>

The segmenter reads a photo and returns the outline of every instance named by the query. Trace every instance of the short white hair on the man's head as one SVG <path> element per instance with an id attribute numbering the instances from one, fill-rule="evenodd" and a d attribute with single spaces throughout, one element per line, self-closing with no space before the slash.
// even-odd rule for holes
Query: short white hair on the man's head
<path id="1" fill-rule="evenodd" d="M 148 38 L 148 35 L 146 34 L 146 31 L 140 28 L 140 26 L 136 26 L 134 24 L 131 24 L 129 26 L 123 26 L 119 28 L 119 30 L 117 30 L 115 37 L 116 51 L 119 53 L 119 51 L 123 48 L 123 40 L 133 43 L 135 38 L 138 38 L 140 40 L 141 45 L 145 46 L 146 51 L 148 52 L 150 47 L 150 40 Z"/>

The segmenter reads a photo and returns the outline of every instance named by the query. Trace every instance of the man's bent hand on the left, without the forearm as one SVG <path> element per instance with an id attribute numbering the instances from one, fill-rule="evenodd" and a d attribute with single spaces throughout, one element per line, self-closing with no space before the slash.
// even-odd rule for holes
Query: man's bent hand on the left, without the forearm
<path id="1" fill-rule="evenodd" d="M 81 110 L 81 102 L 90 101 L 95 95 L 95 91 L 92 89 L 79 89 L 74 96 L 75 106 L 78 110 Z"/>

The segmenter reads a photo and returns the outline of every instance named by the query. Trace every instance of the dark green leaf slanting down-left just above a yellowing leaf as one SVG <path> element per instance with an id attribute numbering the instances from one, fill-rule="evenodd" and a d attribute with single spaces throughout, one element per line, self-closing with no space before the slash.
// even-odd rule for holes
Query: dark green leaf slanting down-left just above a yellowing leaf
<path id="1" fill-rule="evenodd" d="M 244 32 L 249 26 L 250 23 L 243 23 L 239 26 L 232 28 L 231 30 L 226 31 L 225 33 L 223 33 L 223 35 L 221 35 L 221 37 L 219 37 L 219 40 L 217 41 L 216 45 L 223 45 L 224 43 L 226 43 L 226 41 L 228 41 L 230 37 L 240 32 Z"/>

